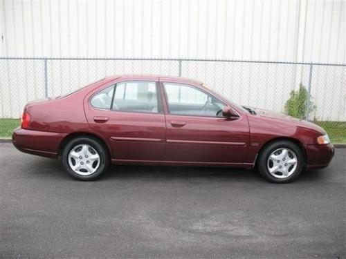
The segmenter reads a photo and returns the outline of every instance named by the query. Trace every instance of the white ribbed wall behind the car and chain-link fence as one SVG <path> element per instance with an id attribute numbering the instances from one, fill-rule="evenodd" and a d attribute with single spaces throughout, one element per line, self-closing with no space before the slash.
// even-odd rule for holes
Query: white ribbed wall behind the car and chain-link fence
<path id="1" fill-rule="evenodd" d="M 345 1 L 9 1 L 0 3 L 3 57 L 168 57 L 345 64 Z M 44 94 L 42 61 L 0 61 L 0 117 Z M 177 75 L 176 62 L 49 61 L 49 95 L 104 75 Z M 309 66 L 183 64 L 240 104 L 282 111 Z M 345 67 L 315 66 L 317 119 L 346 120 Z M 22 90 L 25 88 L 25 91 Z"/>

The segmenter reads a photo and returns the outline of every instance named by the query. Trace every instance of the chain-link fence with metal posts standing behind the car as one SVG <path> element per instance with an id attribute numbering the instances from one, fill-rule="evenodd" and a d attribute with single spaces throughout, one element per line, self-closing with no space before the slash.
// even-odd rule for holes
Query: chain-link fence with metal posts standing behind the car
<path id="1" fill-rule="evenodd" d="M 224 97 L 320 124 L 346 142 L 345 64 L 206 59 L 0 58 L 1 118 L 30 100 L 64 95 L 107 75 L 171 75 L 203 81 Z"/>

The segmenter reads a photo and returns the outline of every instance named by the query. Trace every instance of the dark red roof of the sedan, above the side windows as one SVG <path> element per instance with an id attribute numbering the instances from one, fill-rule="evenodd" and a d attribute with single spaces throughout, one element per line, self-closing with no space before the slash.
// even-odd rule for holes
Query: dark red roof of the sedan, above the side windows
<path id="1" fill-rule="evenodd" d="M 155 81 L 175 81 L 183 84 L 201 85 L 202 82 L 185 77 L 172 77 L 167 75 L 117 75 L 109 76 L 105 79 L 121 79 L 121 80 L 155 80 Z"/>

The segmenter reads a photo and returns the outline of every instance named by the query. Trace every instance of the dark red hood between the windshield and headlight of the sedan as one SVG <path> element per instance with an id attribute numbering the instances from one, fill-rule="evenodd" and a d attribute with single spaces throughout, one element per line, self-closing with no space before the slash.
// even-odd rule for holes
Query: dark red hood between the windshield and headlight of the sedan
<path id="1" fill-rule="evenodd" d="M 255 110 L 255 112 L 257 113 L 257 116 L 269 117 L 272 119 L 279 119 L 284 122 L 289 122 L 291 124 L 295 124 L 305 128 L 312 128 L 313 130 L 319 131 L 322 134 L 326 133 L 325 130 L 321 128 L 320 126 L 313 124 L 312 122 L 308 122 L 307 120 L 304 120 L 304 119 L 298 119 L 283 113 L 278 113 L 276 111 L 269 111 L 269 110 L 260 109 L 260 108 L 254 108 L 253 110 Z"/>

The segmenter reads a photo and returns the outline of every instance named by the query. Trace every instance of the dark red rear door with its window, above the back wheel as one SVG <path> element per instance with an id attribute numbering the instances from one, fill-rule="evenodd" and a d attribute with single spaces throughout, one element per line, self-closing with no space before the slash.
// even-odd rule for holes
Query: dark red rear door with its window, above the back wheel
<path id="1" fill-rule="evenodd" d="M 158 81 L 120 81 L 95 93 L 86 117 L 111 147 L 113 160 L 160 161 L 165 157 L 165 115 Z"/>

